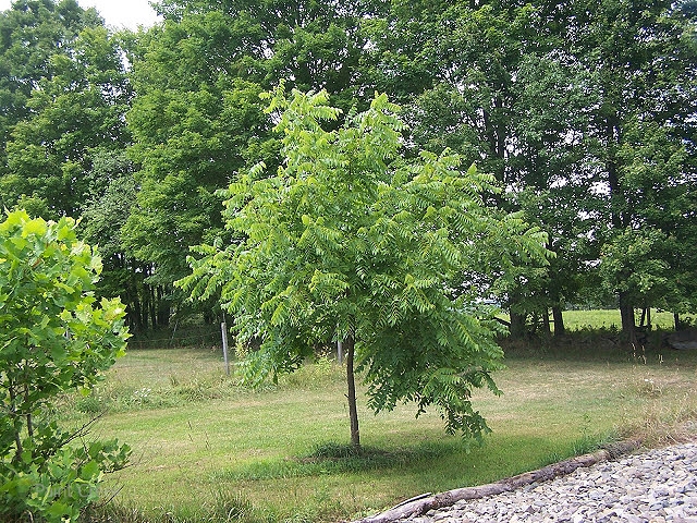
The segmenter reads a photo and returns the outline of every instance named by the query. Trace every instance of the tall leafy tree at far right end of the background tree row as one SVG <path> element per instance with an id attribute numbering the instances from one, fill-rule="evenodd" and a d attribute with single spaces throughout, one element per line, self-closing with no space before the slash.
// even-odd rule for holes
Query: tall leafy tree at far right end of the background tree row
<path id="1" fill-rule="evenodd" d="M 606 284 L 617 295 L 622 328 L 633 343 L 634 308 L 677 299 L 676 278 L 684 272 L 672 270 L 680 254 L 675 239 L 692 234 L 682 228 L 694 229 L 685 217 L 695 193 L 688 144 L 697 112 L 697 47 L 676 5 L 578 1 L 567 28 L 600 96 L 589 157 L 599 166 L 601 207 L 595 215 L 606 224 L 597 236 Z"/>

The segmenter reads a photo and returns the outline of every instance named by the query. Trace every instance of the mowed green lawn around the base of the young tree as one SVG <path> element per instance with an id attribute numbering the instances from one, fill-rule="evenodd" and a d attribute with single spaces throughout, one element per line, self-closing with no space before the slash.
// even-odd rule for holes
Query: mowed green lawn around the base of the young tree
<path id="1" fill-rule="evenodd" d="M 657 445 L 697 417 L 697 354 L 567 343 L 510 348 L 508 368 L 496 376 L 504 394 L 477 391 L 473 399 L 493 433 L 470 449 L 443 433 L 435 412 L 415 419 L 413 405 L 400 405 L 374 416 L 362 396 L 367 452 L 342 457 L 344 373 L 328 360 L 250 391 L 224 375 L 209 349 L 132 350 L 91 397 L 71 399 L 63 411 L 78 424 L 109 408 L 95 437 L 134 449 L 133 465 L 107 482 L 105 496 L 120 489 L 115 503 L 154 521 L 166 513 L 175 514 L 167 521 L 212 521 L 206 511 L 222 497 L 248 522 L 356 519 L 609 439 L 643 436 Z"/>

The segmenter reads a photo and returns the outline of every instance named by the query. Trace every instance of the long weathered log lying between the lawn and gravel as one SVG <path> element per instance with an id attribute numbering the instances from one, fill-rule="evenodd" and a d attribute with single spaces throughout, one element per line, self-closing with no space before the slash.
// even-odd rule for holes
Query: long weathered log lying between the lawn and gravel
<path id="1" fill-rule="evenodd" d="M 403 501 L 381 514 L 371 515 L 354 523 L 390 523 L 396 520 L 421 515 L 429 510 L 452 507 L 461 500 L 481 499 L 497 494 L 503 494 L 536 482 L 546 482 L 558 476 L 571 474 L 576 469 L 591 466 L 602 461 L 614 460 L 620 455 L 634 452 L 640 447 L 637 440 L 622 441 L 598 450 L 591 454 L 578 455 L 568 460 L 547 465 L 533 472 L 518 474 L 517 476 L 501 479 L 497 483 L 480 485 L 477 487 L 464 487 L 437 494 L 435 496 L 421 495 Z"/>

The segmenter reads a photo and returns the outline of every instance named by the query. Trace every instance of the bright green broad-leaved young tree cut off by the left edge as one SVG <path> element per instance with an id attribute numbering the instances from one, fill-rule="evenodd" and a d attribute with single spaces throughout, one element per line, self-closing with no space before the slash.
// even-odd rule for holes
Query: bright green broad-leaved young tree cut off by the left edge
<path id="1" fill-rule="evenodd" d="M 88 390 L 124 353 L 123 305 L 91 295 L 100 270 L 70 218 L 14 211 L 0 222 L 2 521 L 74 522 L 103 473 L 127 460 L 126 446 L 87 442 L 87 427 L 64 431 L 49 414 L 57 396 Z"/>

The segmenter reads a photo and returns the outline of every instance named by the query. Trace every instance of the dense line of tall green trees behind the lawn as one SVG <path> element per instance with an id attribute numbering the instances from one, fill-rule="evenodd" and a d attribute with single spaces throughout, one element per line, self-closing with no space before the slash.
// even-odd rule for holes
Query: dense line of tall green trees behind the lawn
<path id="1" fill-rule="evenodd" d="M 279 166 L 259 94 L 281 80 L 326 89 L 344 115 L 387 93 L 407 154 L 449 147 L 496 178 L 490 204 L 547 233 L 549 265 L 519 253 L 497 266 L 492 247 L 487 277 L 460 278 L 502 301 L 515 335 L 549 328 L 549 311 L 563 332 L 573 303 L 615 304 L 633 341 L 635 309 L 697 309 L 695 2 L 158 9 L 164 22 L 136 33 L 74 0 L 0 14 L 0 204 L 81 217 L 101 292 L 121 295 L 133 327 L 184 312 L 173 282 L 191 245 L 235 241 L 217 191 L 259 160 Z"/>

